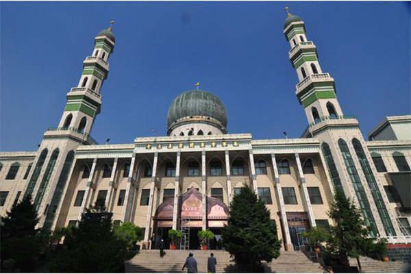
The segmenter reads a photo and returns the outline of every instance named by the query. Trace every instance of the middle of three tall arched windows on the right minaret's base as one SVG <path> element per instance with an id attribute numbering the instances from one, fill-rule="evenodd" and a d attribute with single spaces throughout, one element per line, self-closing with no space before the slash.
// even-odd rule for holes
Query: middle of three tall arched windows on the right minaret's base
<path id="1" fill-rule="evenodd" d="M 340 147 L 341 154 L 343 155 L 347 173 L 349 174 L 353 188 L 356 191 L 356 196 L 358 202 L 360 203 L 362 216 L 364 217 L 366 226 L 371 227 L 370 234 L 371 236 L 375 237 L 378 233 L 377 225 L 375 225 L 373 212 L 371 211 L 369 200 L 366 197 L 366 192 L 364 190 L 364 187 L 362 186 L 360 176 L 358 175 L 356 164 L 354 164 L 353 162 L 353 158 L 351 157 L 351 152 L 349 151 L 347 142 L 345 142 L 345 140 L 343 139 L 340 139 L 338 140 L 338 146 Z"/>

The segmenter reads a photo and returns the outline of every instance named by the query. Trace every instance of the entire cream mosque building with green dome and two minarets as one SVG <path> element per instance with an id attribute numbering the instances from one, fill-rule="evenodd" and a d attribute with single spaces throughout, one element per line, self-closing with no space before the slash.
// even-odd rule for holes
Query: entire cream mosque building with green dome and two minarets
<path id="1" fill-rule="evenodd" d="M 60 123 L 45 132 L 38 150 L 0 153 L 0 215 L 31 195 L 39 227 L 55 229 L 76 225 L 98 203 L 112 212 L 114 225 L 145 228 L 142 248 L 153 233 L 168 241 L 169 229 L 183 229 L 182 247 L 197 249 L 197 232 L 210 229 L 218 237 L 230 201 L 247 185 L 271 211 L 282 249 L 298 251 L 301 232 L 333 224 L 329 203 L 342 190 L 373 236 L 410 244 L 411 116 L 386 117 L 365 140 L 356 117 L 343 112 L 334 78 L 322 71 L 299 16 L 288 13 L 284 36 L 308 120 L 301 138 L 227 134 L 223 102 L 197 89 L 171 102 L 167 136 L 99 145 L 90 132 L 116 42 L 111 27 L 99 32 Z"/>

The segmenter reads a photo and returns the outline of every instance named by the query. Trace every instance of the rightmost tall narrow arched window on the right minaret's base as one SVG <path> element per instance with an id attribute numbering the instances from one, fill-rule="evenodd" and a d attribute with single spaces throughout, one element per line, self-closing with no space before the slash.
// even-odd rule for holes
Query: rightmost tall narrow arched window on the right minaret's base
<path id="1" fill-rule="evenodd" d="M 371 170 L 369 161 L 366 159 L 366 155 L 364 153 L 364 149 L 362 149 L 361 142 L 356 138 L 353 138 L 353 147 L 356 151 L 358 160 L 360 160 L 362 172 L 364 172 L 366 182 L 369 185 L 371 195 L 373 196 L 374 203 L 377 207 L 379 218 L 381 218 L 384 230 L 387 236 L 396 236 L 393 223 L 391 223 L 390 215 L 388 214 L 384 200 L 382 199 L 381 192 L 379 192 L 379 188 L 377 182 L 375 181 L 375 177 L 373 175 L 373 171 Z"/>

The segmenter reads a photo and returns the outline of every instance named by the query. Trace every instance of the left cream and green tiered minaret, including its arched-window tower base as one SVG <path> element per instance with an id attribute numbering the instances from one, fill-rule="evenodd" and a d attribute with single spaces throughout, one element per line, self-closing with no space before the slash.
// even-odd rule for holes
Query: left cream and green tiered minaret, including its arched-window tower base
<path id="1" fill-rule="evenodd" d="M 107 79 L 108 58 L 114 50 L 112 23 L 97 34 L 92 55 L 83 62 L 79 83 L 67 93 L 62 119 L 58 127 L 49 127 L 45 132 L 34 160 L 25 195 L 32 196 L 40 217 L 39 227 L 53 227 L 77 147 L 97 145 L 90 132 L 100 112 L 101 86 Z"/>

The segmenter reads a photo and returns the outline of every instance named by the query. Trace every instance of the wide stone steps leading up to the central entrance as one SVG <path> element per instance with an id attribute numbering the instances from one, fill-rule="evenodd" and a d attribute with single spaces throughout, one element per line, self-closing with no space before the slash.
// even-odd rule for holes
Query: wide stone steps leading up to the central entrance
<path id="1" fill-rule="evenodd" d="M 186 250 L 166 250 L 160 258 L 158 250 L 142 250 L 132 260 L 125 263 L 125 273 L 183 273 L 182 267 L 188 256 Z M 207 258 L 214 253 L 217 259 L 217 273 L 238 273 L 234 258 L 222 250 L 194 251 L 199 273 L 207 273 Z M 313 263 L 302 253 L 295 251 L 282 251 L 273 262 L 264 263 L 266 273 L 323 273 L 320 264 Z"/>

